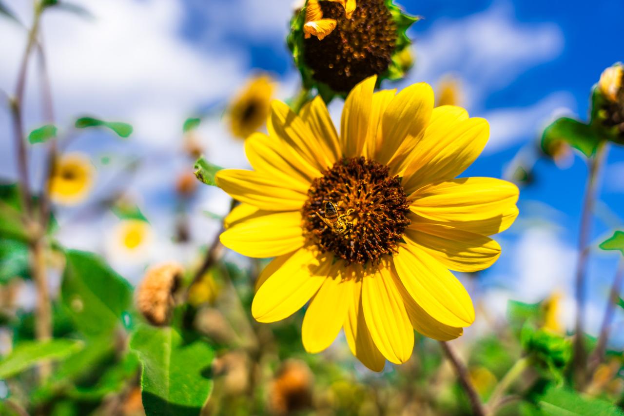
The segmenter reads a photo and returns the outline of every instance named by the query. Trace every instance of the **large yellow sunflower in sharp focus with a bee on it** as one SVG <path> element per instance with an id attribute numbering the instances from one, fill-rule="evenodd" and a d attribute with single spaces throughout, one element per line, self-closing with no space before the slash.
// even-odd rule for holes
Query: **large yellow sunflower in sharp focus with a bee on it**
<path id="1" fill-rule="evenodd" d="M 338 136 L 320 97 L 300 115 L 274 101 L 268 136 L 245 142 L 253 171 L 225 169 L 217 184 L 241 202 L 222 243 L 275 257 L 258 277 L 251 313 L 285 319 L 308 301 L 302 339 L 326 349 L 344 328 L 369 369 L 412 354 L 414 329 L 436 340 L 462 335 L 472 300 L 449 271 L 493 264 L 487 235 L 518 214 L 510 182 L 461 174 L 489 125 L 455 106 L 434 109 L 427 84 L 373 93 L 376 77 L 344 102 Z"/>

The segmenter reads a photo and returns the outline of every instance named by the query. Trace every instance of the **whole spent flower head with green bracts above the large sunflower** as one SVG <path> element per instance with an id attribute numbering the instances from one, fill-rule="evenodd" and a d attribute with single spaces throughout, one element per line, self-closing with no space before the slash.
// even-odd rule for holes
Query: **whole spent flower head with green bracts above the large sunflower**
<path id="1" fill-rule="evenodd" d="M 304 87 L 328 102 L 367 77 L 403 77 L 413 63 L 406 30 L 418 19 L 392 0 L 306 0 L 291 21 L 288 47 Z"/>

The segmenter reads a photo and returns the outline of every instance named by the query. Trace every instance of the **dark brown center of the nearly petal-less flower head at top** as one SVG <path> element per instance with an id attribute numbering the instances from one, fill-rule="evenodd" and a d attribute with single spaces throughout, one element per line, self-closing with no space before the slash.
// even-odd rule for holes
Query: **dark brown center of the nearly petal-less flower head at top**
<path id="1" fill-rule="evenodd" d="M 383 74 L 392 62 L 397 28 L 384 0 L 358 0 L 351 19 L 336 2 L 321 1 L 323 17 L 336 19 L 336 29 L 319 41 L 305 39 L 305 63 L 316 81 L 337 92 L 348 92 L 360 81 Z"/>

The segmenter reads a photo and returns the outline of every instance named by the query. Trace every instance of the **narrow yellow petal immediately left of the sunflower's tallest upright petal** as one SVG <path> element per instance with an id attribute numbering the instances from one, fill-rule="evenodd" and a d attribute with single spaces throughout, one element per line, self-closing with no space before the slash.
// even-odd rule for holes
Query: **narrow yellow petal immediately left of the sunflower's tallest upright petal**
<path id="1" fill-rule="evenodd" d="M 299 116 L 318 142 L 319 149 L 323 152 L 326 161 L 328 163 L 339 161 L 342 154 L 338 134 L 323 99 L 320 96 L 314 97 L 312 101 L 301 108 Z"/>

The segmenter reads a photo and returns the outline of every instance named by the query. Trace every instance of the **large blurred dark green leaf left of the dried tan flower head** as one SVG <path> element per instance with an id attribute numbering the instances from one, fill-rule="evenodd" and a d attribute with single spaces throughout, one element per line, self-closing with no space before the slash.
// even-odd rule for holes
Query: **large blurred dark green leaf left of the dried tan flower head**
<path id="1" fill-rule="evenodd" d="M 62 303 L 88 337 L 110 334 L 124 323 L 132 288 L 92 253 L 69 250 L 61 286 Z"/>

